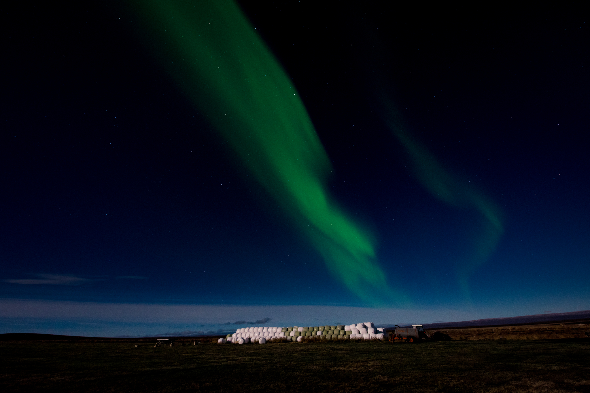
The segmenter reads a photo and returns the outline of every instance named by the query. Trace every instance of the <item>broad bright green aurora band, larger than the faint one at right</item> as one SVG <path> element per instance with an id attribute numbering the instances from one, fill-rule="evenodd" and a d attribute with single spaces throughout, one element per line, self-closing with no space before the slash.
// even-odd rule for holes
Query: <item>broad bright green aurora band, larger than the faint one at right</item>
<path id="1" fill-rule="evenodd" d="M 228 0 L 129 4 L 140 17 L 143 37 L 153 41 L 147 46 L 241 166 L 291 216 L 329 271 L 367 303 L 405 303 L 375 260 L 371 234 L 329 195 L 330 161 L 306 108 L 240 8 Z"/>

